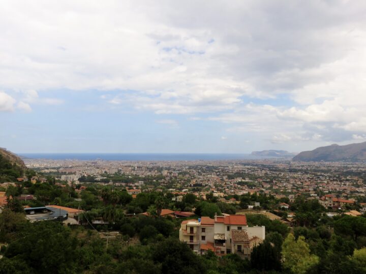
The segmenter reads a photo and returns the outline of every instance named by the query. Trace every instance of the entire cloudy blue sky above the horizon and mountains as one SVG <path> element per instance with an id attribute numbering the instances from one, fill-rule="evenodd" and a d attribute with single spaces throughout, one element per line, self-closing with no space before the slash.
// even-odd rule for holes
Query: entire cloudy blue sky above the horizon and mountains
<path id="1" fill-rule="evenodd" d="M 250 153 L 366 141 L 364 1 L 0 9 L 0 147 Z"/>

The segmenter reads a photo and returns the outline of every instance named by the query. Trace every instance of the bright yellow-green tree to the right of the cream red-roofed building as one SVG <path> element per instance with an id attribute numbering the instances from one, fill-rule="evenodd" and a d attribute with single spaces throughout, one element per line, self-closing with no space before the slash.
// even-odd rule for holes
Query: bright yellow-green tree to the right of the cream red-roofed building
<path id="1" fill-rule="evenodd" d="M 319 263 L 319 257 L 310 254 L 309 245 L 303 236 L 297 241 L 293 234 L 289 233 L 282 244 L 282 260 L 285 269 L 292 273 L 307 273 L 307 270 Z"/>

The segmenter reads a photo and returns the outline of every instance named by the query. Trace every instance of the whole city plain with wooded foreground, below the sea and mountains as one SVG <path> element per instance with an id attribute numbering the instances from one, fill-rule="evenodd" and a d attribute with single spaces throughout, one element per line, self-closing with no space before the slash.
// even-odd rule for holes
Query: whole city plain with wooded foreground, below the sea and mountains
<path id="1" fill-rule="evenodd" d="M 23 164 L 15 158 L 8 165 L 7 155 L 13 154 L 3 151 L 8 153 L 0 164 L 5 272 L 16 273 L 18 263 L 22 273 L 59 272 L 59 267 L 85 273 L 364 270 L 361 162 L 25 158 Z M 37 249 L 18 249 L 44 249 L 46 239 L 83 263 L 55 250 L 49 256 L 67 265 L 50 264 Z"/>

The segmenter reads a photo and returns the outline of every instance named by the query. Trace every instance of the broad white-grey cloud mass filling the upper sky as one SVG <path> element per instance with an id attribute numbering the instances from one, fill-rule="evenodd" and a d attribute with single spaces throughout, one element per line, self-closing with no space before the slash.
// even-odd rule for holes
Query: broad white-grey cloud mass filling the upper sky
<path id="1" fill-rule="evenodd" d="M 206 113 L 270 142 L 354 140 L 366 132 L 365 11 L 342 0 L 8 2 L 0 88 L 26 92 L 0 93 L 0 110 L 63 103 L 48 90 L 113 90 L 103 104 Z"/>

